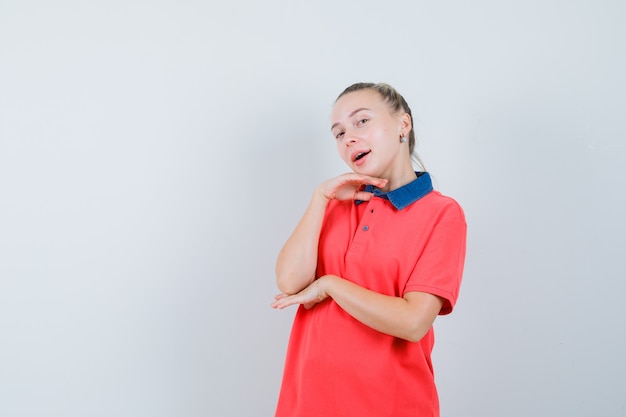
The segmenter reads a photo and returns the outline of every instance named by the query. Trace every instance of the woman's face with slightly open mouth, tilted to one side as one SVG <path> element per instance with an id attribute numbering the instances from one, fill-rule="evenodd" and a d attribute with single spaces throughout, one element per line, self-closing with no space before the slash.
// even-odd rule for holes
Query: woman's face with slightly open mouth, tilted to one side
<path id="1" fill-rule="evenodd" d="M 410 161 L 408 146 L 400 142 L 410 130 L 407 120 L 407 114 L 392 114 L 377 91 L 358 90 L 335 103 L 331 132 L 339 156 L 354 172 L 391 178 L 405 164 L 404 159 Z"/>

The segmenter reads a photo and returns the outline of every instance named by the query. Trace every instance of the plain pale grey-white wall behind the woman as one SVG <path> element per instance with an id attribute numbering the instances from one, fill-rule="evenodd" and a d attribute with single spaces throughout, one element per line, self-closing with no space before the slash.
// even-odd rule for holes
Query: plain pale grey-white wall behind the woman
<path id="1" fill-rule="evenodd" d="M 274 260 L 384 81 L 469 225 L 442 416 L 625 416 L 625 12 L 0 0 L 0 415 L 273 415 Z"/>

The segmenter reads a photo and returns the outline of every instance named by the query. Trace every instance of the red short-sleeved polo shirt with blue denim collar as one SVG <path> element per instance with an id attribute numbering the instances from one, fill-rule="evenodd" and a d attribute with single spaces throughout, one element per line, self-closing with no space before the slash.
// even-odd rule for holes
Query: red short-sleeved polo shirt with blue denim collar
<path id="1" fill-rule="evenodd" d="M 454 308 L 465 259 L 461 207 L 428 173 L 370 201 L 329 202 L 316 276 L 337 275 L 381 294 L 437 295 Z M 438 417 L 431 328 L 418 342 L 374 330 L 332 299 L 298 308 L 277 417 Z"/>

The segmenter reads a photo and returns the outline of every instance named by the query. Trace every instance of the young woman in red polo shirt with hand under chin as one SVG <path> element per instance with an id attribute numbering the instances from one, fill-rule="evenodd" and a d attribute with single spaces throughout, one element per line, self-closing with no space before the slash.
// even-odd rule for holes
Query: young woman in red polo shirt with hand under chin
<path id="1" fill-rule="evenodd" d="M 315 189 L 278 256 L 272 307 L 300 308 L 277 417 L 439 416 L 432 325 L 456 302 L 466 224 L 414 170 L 412 122 L 386 84 L 335 102 L 331 131 L 352 172 Z"/>

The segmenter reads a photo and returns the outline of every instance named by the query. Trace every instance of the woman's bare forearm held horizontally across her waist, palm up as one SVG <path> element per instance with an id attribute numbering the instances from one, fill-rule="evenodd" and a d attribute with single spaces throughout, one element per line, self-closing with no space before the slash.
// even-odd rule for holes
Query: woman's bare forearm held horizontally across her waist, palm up
<path id="1" fill-rule="evenodd" d="M 327 297 L 366 326 L 412 342 L 424 337 L 443 305 L 443 300 L 433 294 L 412 291 L 404 297 L 393 297 L 336 275 L 325 275 L 298 294 L 278 295 L 272 307 L 304 304 L 310 308 Z"/>

